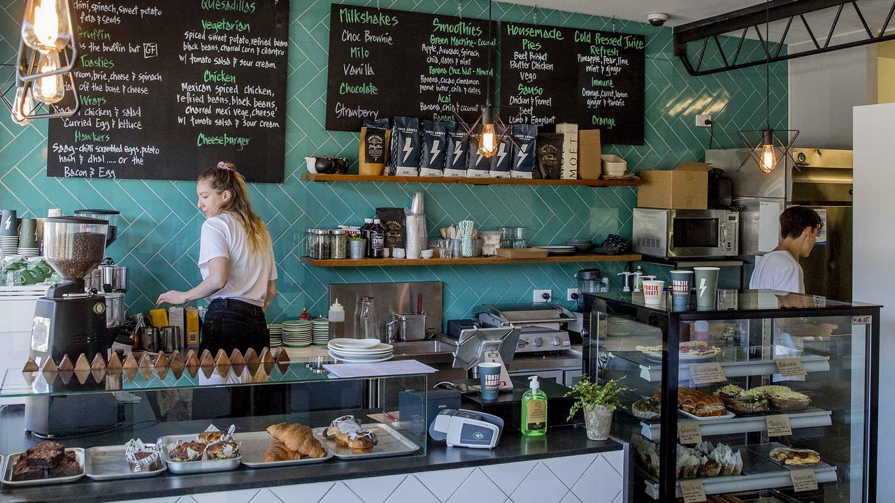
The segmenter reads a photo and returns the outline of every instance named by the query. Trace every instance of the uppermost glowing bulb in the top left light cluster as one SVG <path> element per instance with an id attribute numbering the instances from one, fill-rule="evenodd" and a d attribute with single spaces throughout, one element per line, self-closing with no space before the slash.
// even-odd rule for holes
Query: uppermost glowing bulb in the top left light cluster
<path id="1" fill-rule="evenodd" d="M 28 0 L 21 39 L 41 53 L 58 52 L 72 40 L 68 0 Z"/>

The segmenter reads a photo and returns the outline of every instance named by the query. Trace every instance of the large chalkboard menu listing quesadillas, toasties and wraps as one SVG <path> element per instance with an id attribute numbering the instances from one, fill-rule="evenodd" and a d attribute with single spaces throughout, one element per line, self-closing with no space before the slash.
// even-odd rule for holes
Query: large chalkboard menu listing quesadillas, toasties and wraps
<path id="1" fill-rule="evenodd" d="M 48 175 L 195 180 L 224 160 L 283 181 L 288 0 L 72 7 L 81 111 L 49 121 Z"/>

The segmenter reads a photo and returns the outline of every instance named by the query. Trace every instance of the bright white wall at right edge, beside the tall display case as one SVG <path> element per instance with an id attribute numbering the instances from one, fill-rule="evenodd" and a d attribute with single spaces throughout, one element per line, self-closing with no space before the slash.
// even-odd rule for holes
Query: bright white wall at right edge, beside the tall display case
<path id="1" fill-rule="evenodd" d="M 891 234 L 895 187 L 895 103 L 855 107 L 855 250 L 852 266 L 856 301 L 882 304 L 880 329 L 879 460 L 877 500 L 895 501 L 895 236 Z"/>

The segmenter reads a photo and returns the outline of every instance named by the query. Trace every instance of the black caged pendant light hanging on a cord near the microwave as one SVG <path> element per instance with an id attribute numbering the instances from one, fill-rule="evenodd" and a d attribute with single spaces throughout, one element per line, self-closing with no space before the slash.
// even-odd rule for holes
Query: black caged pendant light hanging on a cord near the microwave
<path id="1" fill-rule="evenodd" d="M 766 18 L 764 23 L 764 39 L 761 41 L 764 48 L 764 103 L 765 103 L 765 127 L 764 129 L 742 130 L 738 131 L 740 139 L 746 145 L 749 156 L 762 168 L 764 173 L 771 173 L 780 160 L 789 158 L 792 160 L 792 145 L 798 137 L 796 129 L 781 129 L 774 131 L 771 128 L 771 43 L 770 37 L 771 25 L 771 0 L 767 0 Z M 761 31 L 758 31 L 761 38 Z M 787 139 L 781 140 L 777 132 L 785 132 Z M 755 137 L 759 140 L 756 142 Z M 780 156 L 777 150 L 781 150 Z M 795 162 L 795 161 L 793 161 Z"/>

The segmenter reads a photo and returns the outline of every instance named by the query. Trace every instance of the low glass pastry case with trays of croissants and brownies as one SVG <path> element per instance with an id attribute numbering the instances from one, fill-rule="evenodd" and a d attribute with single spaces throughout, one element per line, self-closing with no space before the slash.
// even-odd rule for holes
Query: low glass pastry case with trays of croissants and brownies
<path id="1" fill-rule="evenodd" d="M 147 355 L 124 368 L 0 372 L 0 397 L 25 401 L 0 410 L 0 499 L 55 483 L 426 455 L 426 374 L 340 379 L 304 362 Z"/>

